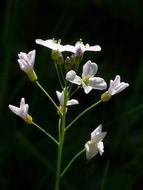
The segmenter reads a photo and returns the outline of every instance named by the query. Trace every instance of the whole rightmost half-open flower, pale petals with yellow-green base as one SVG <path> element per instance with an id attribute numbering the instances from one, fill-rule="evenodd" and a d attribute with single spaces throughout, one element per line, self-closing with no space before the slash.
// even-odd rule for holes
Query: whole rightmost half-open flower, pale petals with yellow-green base
<path id="1" fill-rule="evenodd" d="M 120 76 L 116 75 L 114 81 L 110 80 L 110 85 L 108 91 L 101 95 L 101 100 L 103 102 L 108 101 L 113 95 L 118 94 L 129 86 L 128 83 L 120 82 Z"/>

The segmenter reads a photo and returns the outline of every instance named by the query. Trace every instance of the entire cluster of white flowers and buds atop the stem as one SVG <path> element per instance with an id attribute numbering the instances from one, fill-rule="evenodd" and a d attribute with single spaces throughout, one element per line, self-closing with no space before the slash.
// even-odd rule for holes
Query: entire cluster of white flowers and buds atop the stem
<path id="1" fill-rule="evenodd" d="M 18 63 L 20 69 L 24 71 L 29 79 L 35 82 L 41 90 L 48 96 L 50 101 L 57 108 L 58 113 L 60 113 L 59 117 L 65 117 L 67 113 L 67 106 L 79 104 L 79 101 L 76 99 L 71 99 L 71 96 L 74 93 L 71 93 L 71 89 L 73 84 L 76 90 L 83 88 L 85 94 L 90 93 L 91 90 L 106 90 L 107 83 L 102 77 L 95 76 L 97 75 L 98 65 L 91 60 L 87 60 L 82 67 L 82 73 L 79 74 L 79 65 L 82 61 L 83 55 L 86 51 L 98 52 L 101 50 L 99 45 L 90 46 L 89 44 L 85 44 L 80 40 L 75 45 L 62 45 L 61 40 L 56 41 L 55 39 L 42 40 L 37 39 L 37 44 L 45 46 L 52 50 L 52 58 L 55 61 L 56 68 L 60 64 L 62 67 L 62 72 L 58 73 L 61 92 L 56 90 L 56 95 L 59 101 L 59 105 L 57 106 L 53 99 L 49 96 L 47 92 L 41 87 L 38 83 L 37 75 L 34 71 L 34 63 L 36 51 L 30 51 L 29 53 L 20 52 L 18 54 Z M 63 52 L 69 52 L 70 55 L 64 59 Z M 61 74 L 61 75 L 60 75 Z M 108 89 L 101 95 L 100 102 L 108 101 L 115 94 L 123 91 L 125 88 L 129 86 L 128 83 L 121 82 L 120 75 L 116 75 L 114 80 L 110 80 L 110 84 Z M 75 92 L 76 92 L 75 90 Z M 9 105 L 9 108 L 16 115 L 24 119 L 27 123 L 32 123 L 32 117 L 28 114 L 28 104 L 25 104 L 25 99 L 22 98 L 20 102 L 20 107 L 15 107 L 13 105 Z M 85 112 L 83 112 L 84 114 Z M 80 114 L 79 117 L 83 114 Z M 77 118 L 79 118 L 77 117 Z M 72 122 L 71 122 L 72 123 Z M 66 126 L 63 133 L 66 131 Z M 104 152 L 103 139 L 106 135 L 106 132 L 102 132 L 102 125 L 99 125 L 92 133 L 91 140 L 85 144 L 86 158 L 93 158 L 98 152 L 100 155 Z M 63 143 L 62 143 L 63 144 Z"/>

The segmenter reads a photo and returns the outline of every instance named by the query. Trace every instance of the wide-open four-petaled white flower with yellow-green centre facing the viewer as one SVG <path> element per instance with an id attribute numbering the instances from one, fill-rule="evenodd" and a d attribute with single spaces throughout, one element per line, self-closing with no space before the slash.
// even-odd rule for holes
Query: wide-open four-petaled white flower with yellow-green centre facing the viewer
<path id="1" fill-rule="evenodd" d="M 79 77 L 74 70 L 71 70 L 66 74 L 66 80 L 77 85 L 82 85 L 86 94 L 88 94 L 92 89 L 104 90 L 107 87 L 104 79 L 94 77 L 97 70 L 98 66 L 96 63 L 87 61 L 83 65 L 82 77 Z"/>

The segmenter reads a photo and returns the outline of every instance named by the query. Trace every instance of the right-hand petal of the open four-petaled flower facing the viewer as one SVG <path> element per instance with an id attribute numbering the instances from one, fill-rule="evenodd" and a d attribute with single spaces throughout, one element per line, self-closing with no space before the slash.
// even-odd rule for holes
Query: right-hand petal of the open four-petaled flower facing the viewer
<path id="1" fill-rule="evenodd" d="M 91 77 L 88 80 L 88 85 L 94 89 L 104 90 L 107 88 L 107 84 L 103 78 L 100 77 Z"/>

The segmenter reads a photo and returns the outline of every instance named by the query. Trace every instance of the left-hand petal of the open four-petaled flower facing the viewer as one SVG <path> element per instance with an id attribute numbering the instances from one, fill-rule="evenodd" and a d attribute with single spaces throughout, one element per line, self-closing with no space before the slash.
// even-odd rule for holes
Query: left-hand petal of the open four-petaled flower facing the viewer
<path id="1" fill-rule="evenodd" d="M 77 85 L 81 84 L 81 78 L 77 76 L 74 70 L 71 70 L 66 74 L 66 80 Z"/>

